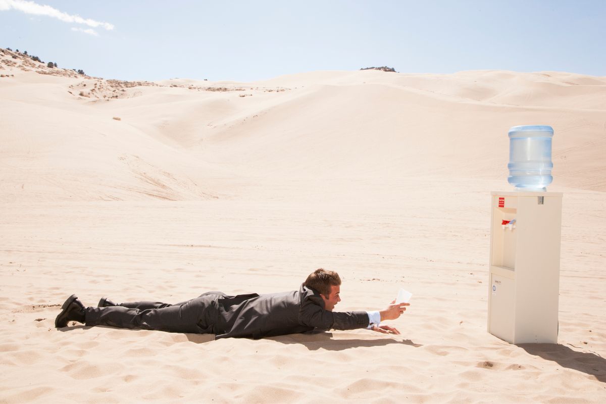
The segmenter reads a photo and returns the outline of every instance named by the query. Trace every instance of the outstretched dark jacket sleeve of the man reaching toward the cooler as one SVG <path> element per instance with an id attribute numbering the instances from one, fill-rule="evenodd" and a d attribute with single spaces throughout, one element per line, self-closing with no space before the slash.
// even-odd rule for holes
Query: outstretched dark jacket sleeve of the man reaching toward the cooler
<path id="1" fill-rule="evenodd" d="M 366 328 L 370 319 L 365 311 L 334 312 L 324 310 L 322 298 L 314 294 L 301 296 L 299 323 L 320 329 Z"/>

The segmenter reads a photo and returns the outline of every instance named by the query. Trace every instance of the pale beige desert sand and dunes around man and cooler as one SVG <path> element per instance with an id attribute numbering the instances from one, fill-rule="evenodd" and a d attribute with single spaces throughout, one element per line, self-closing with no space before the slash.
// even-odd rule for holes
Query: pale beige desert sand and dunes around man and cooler
<path id="1" fill-rule="evenodd" d="M 0 402 L 606 401 L 606 77 L 122 82 L 8 50 L 0 73 Z M 527 124 L 554 128 L 564 193 L 558 344 L 487 332 L 490 191 Z M 54 327 L 72 293 L 271 293 L 318 267 L 339 311 L 411 291 L 402 334 Z"/>

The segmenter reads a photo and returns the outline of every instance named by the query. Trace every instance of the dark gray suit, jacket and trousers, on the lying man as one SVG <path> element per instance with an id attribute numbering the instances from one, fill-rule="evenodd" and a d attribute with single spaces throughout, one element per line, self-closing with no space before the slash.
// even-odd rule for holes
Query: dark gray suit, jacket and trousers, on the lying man
<path id="1" fill-rule="evenodd" d="M 368 326 L 365 311 L 324 310 L 324 300 L 311 288 L 298 291 L 227 296 L 208 292 L 187 302 L 135 302 L 113 307 L 87 307 L 86 325 L 159 329 L 173 333 L 215 334 L 215 338 L 262 338 L 312 329 Z"/>

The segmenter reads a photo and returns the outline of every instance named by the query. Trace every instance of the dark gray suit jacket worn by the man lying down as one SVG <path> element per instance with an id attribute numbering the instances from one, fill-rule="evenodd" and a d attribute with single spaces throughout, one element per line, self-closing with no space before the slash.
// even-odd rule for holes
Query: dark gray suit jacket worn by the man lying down
<path id="1" fill-rule="evenodd" d="M 368 326 L 365 311 L 338 313 L 324 309 L 320 294 L 301 285 L 298 291 L 224 296 L 217 299 L 215 338 L 272 337 L 312 329 L 355 329 Z"/>

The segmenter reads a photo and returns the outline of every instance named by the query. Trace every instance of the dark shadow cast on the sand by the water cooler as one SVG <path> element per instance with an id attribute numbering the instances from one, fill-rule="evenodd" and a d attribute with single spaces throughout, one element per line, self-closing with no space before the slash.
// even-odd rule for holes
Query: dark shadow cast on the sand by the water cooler
<path id="1" fill-rule="evenodd" d="M 599 382 L 606 383 L 606 359 L 598 354 L 573 351 L 568 346 L 559 343 L 519 343 L 516 345 L 531 355 L 553 360 L 563 368 L 589 374 Z"/>

